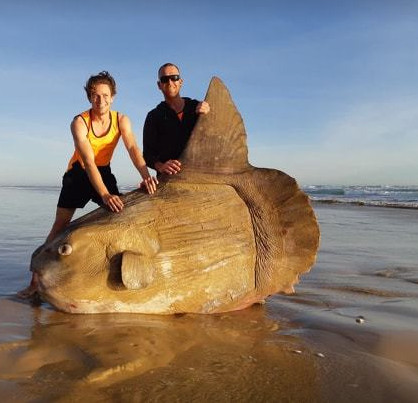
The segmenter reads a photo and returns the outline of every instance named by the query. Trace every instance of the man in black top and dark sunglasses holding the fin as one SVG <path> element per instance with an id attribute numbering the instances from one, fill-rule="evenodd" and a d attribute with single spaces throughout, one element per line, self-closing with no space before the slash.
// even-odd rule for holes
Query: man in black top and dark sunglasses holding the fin
<path id="1" fill-rule="evenodd" d="M 164 96 L 144 123 L 144 158 L 159 174 L 174 175 L 181 170 L 178 160 L 192 134 L 199 114 L 210 111 L 207 102 L 180 96 L 183 79 L 172 63 L 158 70 L 158 88 Z"/>

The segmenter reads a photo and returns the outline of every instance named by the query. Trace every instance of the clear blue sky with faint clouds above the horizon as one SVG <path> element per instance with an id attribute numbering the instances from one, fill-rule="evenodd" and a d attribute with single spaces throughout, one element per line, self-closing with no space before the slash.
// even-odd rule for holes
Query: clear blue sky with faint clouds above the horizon
<path id="1" fill-rule="evenodd" d="M 165 62 L 183 96 L 222 79 L 254 166 L 303 186 L 418 185 L 414 0 L 0 0 L 0 185 L 60 185 L 102 70 L 142 148 Z M 139 182 L 122 142 L 112 170 Z"/>

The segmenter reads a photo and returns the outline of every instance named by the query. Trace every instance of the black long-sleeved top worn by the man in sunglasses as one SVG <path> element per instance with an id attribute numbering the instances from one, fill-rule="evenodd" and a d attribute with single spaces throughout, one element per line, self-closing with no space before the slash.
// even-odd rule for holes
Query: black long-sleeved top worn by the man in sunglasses
<path id="1" fill-rule="evenodd" d="M 198 101 L 184 99 L 183 118 L 166 102 L 161 102 L 145 119 L 143 132 L 144 159 L 147 166 L 155 169 L 155 163 L 178 159 L 187 145 L 197 120 Z"/>

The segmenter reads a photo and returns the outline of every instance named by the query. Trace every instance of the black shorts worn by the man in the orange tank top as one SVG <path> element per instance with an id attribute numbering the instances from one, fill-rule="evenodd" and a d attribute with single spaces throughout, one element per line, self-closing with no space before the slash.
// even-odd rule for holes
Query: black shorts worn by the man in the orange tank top
<path id="1" fill-rule="evenodd" d="M 103 182 L 110 194 L 120 195 L 116 178 L 110 170 L 110 165 L 97 167 Z M 103 200 L 90 183 L 86 171 L 79 162 L 62 177 L 62 188 L 58 199 L 58 207 L 83 208 L 90 200 L 103 205 Z"/>

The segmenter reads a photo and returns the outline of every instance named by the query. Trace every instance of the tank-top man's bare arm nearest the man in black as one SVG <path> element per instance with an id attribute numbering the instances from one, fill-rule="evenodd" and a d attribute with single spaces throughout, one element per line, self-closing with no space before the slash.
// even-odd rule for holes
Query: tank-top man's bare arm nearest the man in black
<path id="1" fill-rule="evenodd" d="M 141 186 L 145 186 L 148 193 L 154 193 L 157 190 L 158 180 L 148 172 L 144 157 L 136 143 L 131 122 L 126 115 L 119 114 L 119 129 L 129 157 L 143 179 Z"/>

